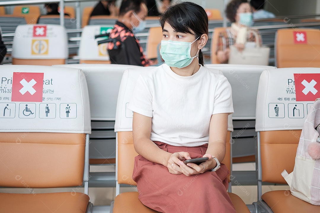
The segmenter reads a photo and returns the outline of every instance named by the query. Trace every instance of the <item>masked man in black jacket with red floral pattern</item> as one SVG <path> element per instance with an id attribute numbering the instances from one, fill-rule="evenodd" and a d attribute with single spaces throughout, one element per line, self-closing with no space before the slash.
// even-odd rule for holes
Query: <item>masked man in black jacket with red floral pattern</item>
<path id="1" fill-rule="evenodd" d="M 118 40 L 108 43 L 111 64 L 138 66 L 153 64 L 146 59 L 138 39 L 132 33 L 132 30 L 138 33 L 145 28 L 147 12 L 144 0 L 122 1 L 118 20 L 109 35 L 109 38 Z"/>

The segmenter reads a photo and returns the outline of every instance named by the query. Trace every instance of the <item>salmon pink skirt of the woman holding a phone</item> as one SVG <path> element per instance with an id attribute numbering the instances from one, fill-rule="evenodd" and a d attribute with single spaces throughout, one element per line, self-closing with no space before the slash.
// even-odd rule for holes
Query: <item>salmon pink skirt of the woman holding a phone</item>
<path id="1" fill-rule="evenodd" d="M 191 158 L 202 157 L 208 145 L 176 147 L 159 141 L 164 151 L 188 152 Z M 139 200 L 151 209 L 164 213 L 236 213 L 227 193 L 229 171 L 221 164 L 215 172 L 185 176 L 171 174 L 162 164 L 142 156 L 134 160 L 133 180 L 137 183 Z"/>

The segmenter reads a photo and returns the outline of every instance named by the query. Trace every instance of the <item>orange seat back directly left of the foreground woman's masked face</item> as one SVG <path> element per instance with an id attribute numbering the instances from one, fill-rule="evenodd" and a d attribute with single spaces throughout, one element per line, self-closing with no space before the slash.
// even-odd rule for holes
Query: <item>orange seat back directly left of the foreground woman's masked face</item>
<path id="1" fill-rule="evenodd" d="M 157 47 L 162 40 L 162 28 L 161 27 L 151 27 L 149 29 L 149 35 L 147 40 L 147 57 L 157 58 Z"/>

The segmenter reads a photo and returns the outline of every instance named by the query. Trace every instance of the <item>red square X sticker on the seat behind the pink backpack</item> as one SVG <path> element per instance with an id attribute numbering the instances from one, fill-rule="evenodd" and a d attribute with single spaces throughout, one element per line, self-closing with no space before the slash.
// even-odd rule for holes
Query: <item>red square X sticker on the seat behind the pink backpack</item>
<path id="1" fill-rule="evenodd" d="M 315 101 L 320 97 L 320 73 L 293 75 L 296 101 Z"/>

